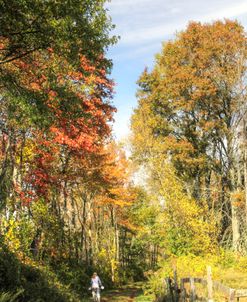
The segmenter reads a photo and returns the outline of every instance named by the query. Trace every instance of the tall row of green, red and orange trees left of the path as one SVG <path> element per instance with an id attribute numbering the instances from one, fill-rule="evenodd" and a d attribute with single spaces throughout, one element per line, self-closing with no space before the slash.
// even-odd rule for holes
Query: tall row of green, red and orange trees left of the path
<path id="1" fill-rule="evenodd" d="M 105 1 L 0 1 L 0 11 L 2 258 L 7 247 L 22 263 L 77 266 L 66 282 L 80 293 L 96 268 L 118 283 L 136 191 L 112 138 L 106 52 L 117 38 Z"/>

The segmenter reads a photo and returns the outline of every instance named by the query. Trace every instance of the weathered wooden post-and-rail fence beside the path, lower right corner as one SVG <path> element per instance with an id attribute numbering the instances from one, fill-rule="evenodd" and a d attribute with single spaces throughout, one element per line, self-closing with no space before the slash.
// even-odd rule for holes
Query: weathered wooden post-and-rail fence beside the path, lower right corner
<path id="1" fill-rule="evenodd" d="M 247 289 L 234 289 L 224 284 L 212 280 L 211 267 L 207 267 L 207 278 L 193 278 L 186 277 L 180 279 L 180 285 L 177 281 L 177 271 L 174 269 L 174 278 L 166 278 L 166 295 L 158 297 L 156 302 L 214 302 L 214 294 L 221 293 L 222 301 L 235 302 L 241 298 L 247 297 Z M 186 286 L 187 284 L 187 286 Z M 207 294 L 204 297 L 198 297 L 196 284 L 203 285 L 207 290 Z M 189 285 L 189 286 L 188 286 Z M 187 290 L 189 287 L 189 291 Z"/>

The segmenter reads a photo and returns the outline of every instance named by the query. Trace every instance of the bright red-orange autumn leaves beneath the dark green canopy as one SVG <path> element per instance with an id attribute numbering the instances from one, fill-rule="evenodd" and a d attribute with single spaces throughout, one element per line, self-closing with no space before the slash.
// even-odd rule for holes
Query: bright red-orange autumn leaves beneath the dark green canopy
<path id="1" fill-rule="evenodd" d="M 49 48 L 6 67 L 30 92 L 28 110 L 37 114 L 35 120 L 46 121 L 42 128 L 32 125 L 29 134 L 35 148 L 23 179 L 33 195 L 22 189 L 21 200 L 49 200 L 63 181 L 74 181 L 85 167 L 97 167 L 115 111 L 109 103 L 113 82 L 103 60 L 92 63 L 81 55 L 78 66 L 72 66 Z"/>

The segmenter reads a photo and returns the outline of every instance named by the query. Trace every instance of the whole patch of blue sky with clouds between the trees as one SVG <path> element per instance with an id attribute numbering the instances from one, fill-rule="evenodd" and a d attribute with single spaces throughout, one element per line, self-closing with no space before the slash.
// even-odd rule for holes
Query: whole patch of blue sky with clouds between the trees
<path id="1" fill-rule="evenodd" d="M 163 41 L 172 39 L 191 20 L 237 19 L 247 29 L 247 0 L 112 0 L 107 6 L 116 25 L 114 34 L 121 36 L 108 53 L 114 64 L 118 112 L 113 129 L 118 140 L 129 133 L 137 105 L 136 81 L 146 66 L 152 68 Z"/>

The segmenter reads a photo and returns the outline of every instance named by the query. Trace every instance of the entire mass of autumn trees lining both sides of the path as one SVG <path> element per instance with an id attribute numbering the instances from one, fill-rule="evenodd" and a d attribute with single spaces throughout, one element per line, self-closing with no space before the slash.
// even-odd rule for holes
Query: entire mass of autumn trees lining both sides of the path
<path id="1" fill-rule="evenodd" d="M 246 254 L 241 24 L 191 22 L 163 44 L 138 80 L 127 157 L 112 138 L 105 1 L 0 11 L 1 291 L 78 301 L 96 269 L 108 286 L 148 278 L 156 291 L 170 259 Z"/>

